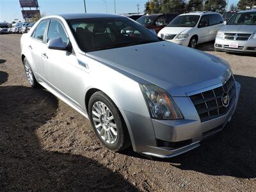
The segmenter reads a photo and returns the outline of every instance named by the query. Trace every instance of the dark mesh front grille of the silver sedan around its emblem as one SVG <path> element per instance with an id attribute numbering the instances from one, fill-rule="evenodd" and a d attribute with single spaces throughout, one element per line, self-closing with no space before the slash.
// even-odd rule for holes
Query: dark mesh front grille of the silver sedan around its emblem
<path id="1" fill-rule="evenodd" d="M 223 106 L 221 101 L 224 93 L 227 93 L 230 99 L 227 108 Z M 197 93 L 189 97 L 196 108 L 201 122 L 225 115 L 236 99 L 236 84 L 234 77 L 231 76 L 226 83 L 218 88 Z"/>

